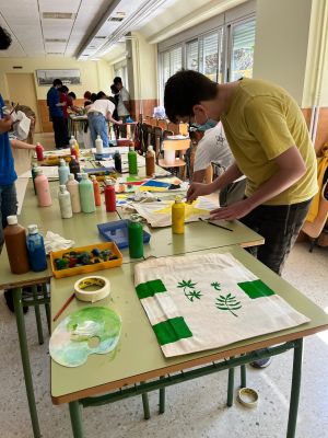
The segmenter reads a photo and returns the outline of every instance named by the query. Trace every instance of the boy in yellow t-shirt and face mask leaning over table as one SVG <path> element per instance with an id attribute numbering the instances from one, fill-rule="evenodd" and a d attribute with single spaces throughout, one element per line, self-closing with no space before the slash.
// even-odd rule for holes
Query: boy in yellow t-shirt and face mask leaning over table
<path id="1" fill-rule="evenodd" d="M 281 274 L 317 192 L 315 151 L 296 102 L 270 82 L 218 84 L 181 70 L 166 83 L 164 106 L 174 123 L 222 122 L 235 163 L 211 184 L 191 184 L 187 197 L 221 191 L 246 175 L 245 199 L 213 210 L 212 218 L 239 219 L 261 234 L 266 242 L 256 255 Z"/>

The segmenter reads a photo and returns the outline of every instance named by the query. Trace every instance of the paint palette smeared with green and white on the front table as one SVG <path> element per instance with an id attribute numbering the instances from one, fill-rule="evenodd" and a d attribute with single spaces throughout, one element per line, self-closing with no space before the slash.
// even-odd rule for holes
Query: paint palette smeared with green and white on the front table
<path id="1" fill-rule="evenodd" d="M 79 367 L 89 355 L 113 351 L 120 331 L 121 320 L 114 310 L 86 307 L 71 313 L 55 328 L 49 353 L 63 367 Z"/>

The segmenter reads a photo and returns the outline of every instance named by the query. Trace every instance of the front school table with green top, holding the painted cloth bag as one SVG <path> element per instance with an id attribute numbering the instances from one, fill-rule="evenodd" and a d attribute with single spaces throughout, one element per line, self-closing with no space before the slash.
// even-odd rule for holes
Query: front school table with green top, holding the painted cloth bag
<path id="1" fill-rule="evenodd" d="M 108 306 L 121 316 L 122 331 L 117 351 L 89 356 L 87 361 L 77 368 L 62 367 L 51 360 L 52 403 L 56 405 L 69 403 L 74 438 L 84 437 L 82 407 L 143 395 L 143 407 L 148 418 L 149 406 L 145 399 L 148 392 L 160 390 L 160 412 L 163 413 L 165 387 L 226 369 L 229 369 L 227 405 L 231 406 L 235 367 L 244 366 L 255 359 L 280 355 L 289 349 L 293 349 L 294 357 L 286 437 L 295 437 L 302 380 L 303 337 L 328 328 L 328 315 L 241 246 L 211 249 L 197 254 L 209 252 L 233 254 L 294 309 L 308 316 L 311 322 L 212 350 L 165 358 L 133 287 L 134 263 L 102 272 L 102 275 L 110 280 L 112 292 L 109 297 L 97 301 L 96 306 Z M 81 277 L 51 279 L 52 315 L 72 293 L 72 285 Z M 73 300 L 59 320 L 52 323 L 51 330 L 54 331 L 69 313 L 84 306 L 91 304 Z M 265 350 L 259 353 L 257 351 L 259 348 Z M 246 387 L 245 367 L 243 368 L 242 387 Z"/>

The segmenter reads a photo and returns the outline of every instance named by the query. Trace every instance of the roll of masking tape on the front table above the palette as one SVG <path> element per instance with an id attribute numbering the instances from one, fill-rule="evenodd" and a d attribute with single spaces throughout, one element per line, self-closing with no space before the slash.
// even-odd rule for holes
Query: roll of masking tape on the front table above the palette
<path id="1" fill-rule="evenodd" d="M 110 283 L 107 278 L 91 276 L 84 277 L 74 284 L 75 297 L 81 301 L 95 302 L 107 297 L 110 292 Z"/>

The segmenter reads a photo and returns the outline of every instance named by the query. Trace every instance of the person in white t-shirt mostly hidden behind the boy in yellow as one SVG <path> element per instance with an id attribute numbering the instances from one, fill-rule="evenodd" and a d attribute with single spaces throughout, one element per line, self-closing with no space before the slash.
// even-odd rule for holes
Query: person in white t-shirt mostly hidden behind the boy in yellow
<path id="1" fill-rule="evenodd" d="M 192 138 L 192 128 L 198 135 L 203 134 L 202 139 L 198 142 L 194 162 L 192 183 L 202 183 L 207 169 L 213 163 L 219 165 L 223 171 L 233 162 L 234 157 L 225 138 L 221 122 L 213 128 L 202 130 L 201 127 L 191 126 L 190 137 Z M 225 206 L 243 199 L 245 194 L 246 178 L 241 178 L 225 187 L 220 193 L 220 205 Z"/>

